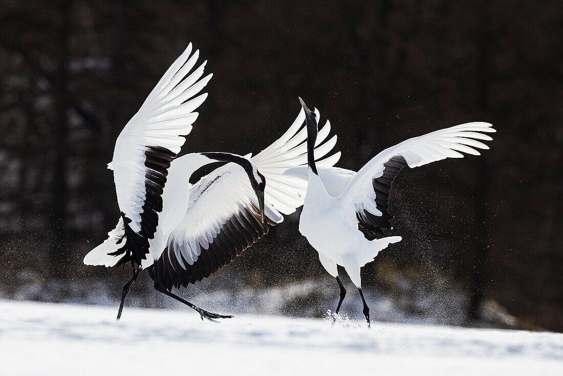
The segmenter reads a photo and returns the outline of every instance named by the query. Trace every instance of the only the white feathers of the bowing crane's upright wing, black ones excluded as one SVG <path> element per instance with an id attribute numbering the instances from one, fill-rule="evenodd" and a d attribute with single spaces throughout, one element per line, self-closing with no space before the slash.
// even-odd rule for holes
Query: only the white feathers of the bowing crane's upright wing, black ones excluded
<path id="1" fill-rule="evenodd" d="M 114 171 L 119 209 L 132 220 L 129 225 L 136 232 L 140 231 L 145 201 L 145 148 L 153 145 L 180 152 L 185 142 L 182 136 L 190 133 L 198 117 L 194 110 L 207 98 L 202 94 L 189 100 L 212 76 L 199 79 L 206 62 L 189 74 L 199 56 L 195 51 L 190 57 L 191 50 L 190 43 L 129 120 L 115 142 L 113 161 L 108 165 Z"/>

